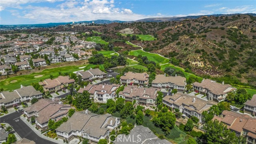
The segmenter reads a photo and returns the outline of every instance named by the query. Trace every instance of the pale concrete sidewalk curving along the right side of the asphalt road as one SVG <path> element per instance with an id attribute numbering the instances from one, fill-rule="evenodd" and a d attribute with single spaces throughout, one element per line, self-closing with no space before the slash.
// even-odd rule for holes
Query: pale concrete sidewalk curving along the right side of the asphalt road
<path id="1" fill-rule="evenodd" d="M 49 137 L 46 137 L 46 136 L 44 136 L 43 134 L 41 134 L 41 131 L 40 131 L 40 130 L 37 130 L 37 129 L 35 128 L 36 125 L 30 124 L 30 122 L 28 122 L 28 121 L 26 120 L 26 118 L 23 117 L 23 114 L 20 116 L 20 119 L 21 119 L 25 124 L 27 124 L 28 127 L 30 127 L 31 130 L 33 130 L 33 131 L 34 131 L 38 136 L 40 136 L 41 138 L 44 138 L 44 139 L 49 140 L 49 141 L 51 141 L 51 142 L 55 142 L 55 143 L 57 143 L 57 144 L 66 144 L 66 143 L 63 142 L 63 140 L 60 139 L 60 138 L 59 138 L 58 140 L 55 140 L 55 139 L 53 139 L 53 138 L 49 138 Z"/>

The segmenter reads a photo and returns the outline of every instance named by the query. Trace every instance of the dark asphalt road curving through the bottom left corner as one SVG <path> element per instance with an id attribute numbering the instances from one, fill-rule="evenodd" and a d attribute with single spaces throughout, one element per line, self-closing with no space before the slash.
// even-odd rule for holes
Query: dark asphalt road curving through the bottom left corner
<path id="1" fill-rule="evenodd" d="M 39 137 L 38 135 L 36 135 L 36 133 L 33 130 L 31 130 L 20 119 L 20 115 L 22 114 L 22 112 L 23 111 L 20 110 L 20 112 L 14 112 L 12 114 L 8 114 L 4 117 L 1 117 L 0 122 L 1 123 L 5 122 L 5 123 L 10 124 L 21 138 L 27 138 L 28 140 L 33 140 L 34 142 L 36 142 L 36 144 L 56 144 L 54 142 L 45 140 L 45 139 Z"/>

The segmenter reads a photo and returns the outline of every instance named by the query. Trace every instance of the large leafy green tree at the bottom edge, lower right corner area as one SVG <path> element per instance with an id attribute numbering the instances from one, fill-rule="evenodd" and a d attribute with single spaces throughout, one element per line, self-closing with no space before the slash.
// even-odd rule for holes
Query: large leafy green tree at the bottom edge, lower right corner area
<path id="1" fill-rule="evenodd" d="M 205 130 L 203 140 L 208 144 L 235 144 L 238 137 L 234 132 L 230 132 L 227 126 L 218 120 L 208 121 L 203 129 Z"/>

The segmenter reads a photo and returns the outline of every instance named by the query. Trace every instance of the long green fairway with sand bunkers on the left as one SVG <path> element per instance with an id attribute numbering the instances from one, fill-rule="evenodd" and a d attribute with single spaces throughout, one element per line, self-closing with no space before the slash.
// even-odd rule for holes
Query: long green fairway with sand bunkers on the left
<path id="1" fill-rule="evenodd" d="M 82 66 L 86 66 L 85 68 L 79 68 Z M 57 78 L 59 76 L 59 72 L 61 72 L 62 74 L 68 72 L 74 72 L 77 70 L 88 70 L 91 67 L 94 67 L 95 65 L 93 64 L 86 64 L 86 65 L 80 65 L 80 66 L 62 66 L 62 67 L 58 67 L 58 68 L 50 68 L 50 69 L 46 69 L 43 70 L 41 72 L 35 72 L 32 74 L 27 74 L 27 75 L 21 75 L 21 76 L 14 76 L 14 77 L 10 77 L 10 78 L 6 78 L 5 80 L 2 80 L 0 82 L 0 86 L 1 88 L 4 88 L 4 91 L 6 90 L 15 90 L 17 88 L 20 88 L 20 85 L 22 84 L 23 86 L 29 86 L 31 85 L 33 82 L 40 82 L 40 80 L 44 80 L 47 78 L 50 78 L 50 74 L 52 76 L 54 76 L 54 78 Z M 104 70 L 103 65 L 100 65 L 100 69 Z M 39 75 L 43 75 L 40 78 L 34 78 L 34 76 L 39 76 Z M 17 82 L 14 83 L 10 83 L 12 80 L 17 80 Z"/>

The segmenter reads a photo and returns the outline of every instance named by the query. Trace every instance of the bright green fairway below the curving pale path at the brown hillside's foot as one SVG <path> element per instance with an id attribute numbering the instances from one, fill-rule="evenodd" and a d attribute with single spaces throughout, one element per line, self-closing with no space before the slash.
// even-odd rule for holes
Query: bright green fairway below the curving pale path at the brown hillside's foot
<path id="1" fill-rule="evenodd" d="M 129 52 L 129 55 L 133 55 L 133 56 L 138 56 L 139 54 L 141 54 L 142 56 L 148 57 L 148 60 L 152 60 L 157 64 L 165 64 L 169 62 L 168 58 L 164 58 L 162 56 L 159 56 L 158 54 L 144 52 L 143 50 L 132 50 Z"/>

